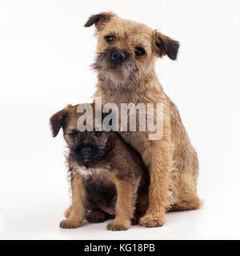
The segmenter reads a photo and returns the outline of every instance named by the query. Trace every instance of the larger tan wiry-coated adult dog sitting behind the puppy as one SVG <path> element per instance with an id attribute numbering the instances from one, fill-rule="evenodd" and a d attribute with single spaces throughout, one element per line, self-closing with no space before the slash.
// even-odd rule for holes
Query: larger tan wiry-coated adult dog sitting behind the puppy
<path id="1" fill-rule="evenodd" d="M 149 140 L 150 131 L 120 131 L 122 138 L 141 154 L 150 174 L 149 207 L 140 219 L 146 227 L 162 226 L 167 210 L 194 210 L 198 157 L 182 124 L 178 108 L 162 90 L 154 72 L 156 58 L 175 60 L 179 43 L 138 22 L 113 13 L 91 16 L 85 26 L 96 27 L 98 73 L 95 97 L 102 104 L 163 103 L 163 136 Z M 158 114 L 154 110 L 155 118 Z"/>

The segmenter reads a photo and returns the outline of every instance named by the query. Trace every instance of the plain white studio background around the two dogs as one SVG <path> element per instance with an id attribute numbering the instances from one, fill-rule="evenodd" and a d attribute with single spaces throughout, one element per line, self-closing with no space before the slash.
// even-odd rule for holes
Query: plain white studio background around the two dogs
<path id="1" fill-rule="evenodd" d="M 159 59 L 156 71 L 198 151 L 205 206 L 154 229 L 60 230 L 70 204 L 65 142 L 62 132 L 51 138 L 49 118 L 91 101 L 96 41 L 83 25 L 106 10 L 181 42 L 178 61 Z M 239 33 L 238 0 L 0 0 L 0 238 L 240 238 Z"/>

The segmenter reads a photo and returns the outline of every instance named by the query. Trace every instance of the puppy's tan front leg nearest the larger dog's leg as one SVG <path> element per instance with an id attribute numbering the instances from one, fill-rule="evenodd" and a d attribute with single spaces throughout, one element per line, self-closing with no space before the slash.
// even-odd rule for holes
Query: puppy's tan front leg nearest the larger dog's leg
<path id="1" fill-rule="evenodd" d="M 116 180 L 115 184 L 118 193 L 116 217 L 106 228 L 114 231 L 128 230 L 131 224 L 130 218 L 134 215 L 134 186 L 122 180 Z"/>

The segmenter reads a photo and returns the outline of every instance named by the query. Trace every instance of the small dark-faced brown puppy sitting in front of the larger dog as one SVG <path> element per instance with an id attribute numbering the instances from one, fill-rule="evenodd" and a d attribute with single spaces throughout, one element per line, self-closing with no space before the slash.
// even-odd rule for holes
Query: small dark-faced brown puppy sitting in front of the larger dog
<path id="1" fill-rule="evenodd" d="M 94 106 L 92 104 L 92 106 Z M 63 229 L 89 222 L 114 221 L 108 230 L 127 230 L 138 223 L 148 206 L 149 177 L 136 150 L 116 132 L 84 131 L 77 127 L 78 106 L 67 106 L 50 118 L 53 136 L 62 127 L 69 146 L 72 204 L 66 210 Z M 136 206 L 136 210 L 135 210 Z"/>

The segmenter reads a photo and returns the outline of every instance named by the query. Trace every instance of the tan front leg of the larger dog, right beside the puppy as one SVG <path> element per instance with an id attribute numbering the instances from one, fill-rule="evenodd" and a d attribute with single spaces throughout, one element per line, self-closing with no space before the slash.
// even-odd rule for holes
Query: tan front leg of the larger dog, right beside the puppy
<path id="1" fill-rule="evenodd" d="M 161 144 L 160 144 L 161 143 Z M 167 193 L 170 186 L 172 154 L 170 143 L 151 142 L 144 154 L 150 172 L 149 207 L 139 224 L 146 227 L 162 226 L 166 222 Z"/>

